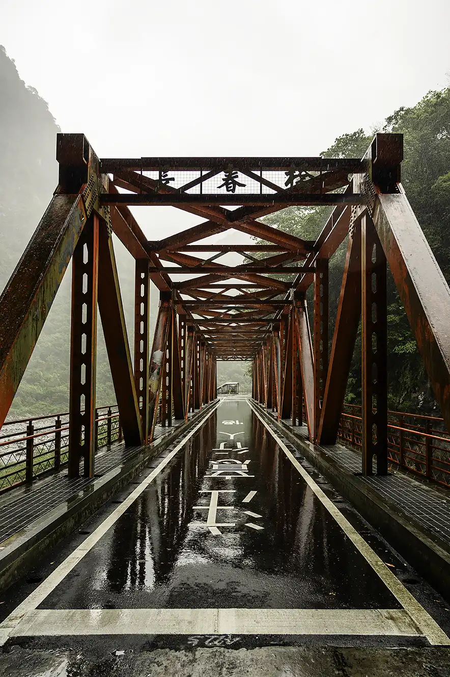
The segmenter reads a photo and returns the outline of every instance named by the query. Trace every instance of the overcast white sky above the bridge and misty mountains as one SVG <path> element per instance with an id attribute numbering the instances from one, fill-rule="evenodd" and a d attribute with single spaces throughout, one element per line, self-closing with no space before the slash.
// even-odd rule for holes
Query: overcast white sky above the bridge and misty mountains
<path id="1" fill-rule="evenodd" d="M 450 0 L 0 0 L 20 76 L 100 157 L 317 155 L 448 85 L 449 26 Z"/>

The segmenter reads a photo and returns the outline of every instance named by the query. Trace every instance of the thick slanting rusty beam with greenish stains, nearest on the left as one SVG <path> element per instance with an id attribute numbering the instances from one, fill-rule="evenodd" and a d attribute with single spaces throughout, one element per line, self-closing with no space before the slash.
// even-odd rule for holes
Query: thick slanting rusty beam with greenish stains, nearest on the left
<path id="1" fill-rule="evenodd" d="M 0 427 L 86 221 L 83 196 L 53 196 L 1 294 Z"/>

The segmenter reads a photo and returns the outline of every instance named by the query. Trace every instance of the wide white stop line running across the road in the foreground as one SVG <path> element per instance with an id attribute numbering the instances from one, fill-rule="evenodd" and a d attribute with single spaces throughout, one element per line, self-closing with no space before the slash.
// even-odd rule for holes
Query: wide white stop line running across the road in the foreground
<path id="1" fill-rule="evenodd" d="M 403 609 L 34 609 L 16 631 L 124 634 L 421 635 Z"/>

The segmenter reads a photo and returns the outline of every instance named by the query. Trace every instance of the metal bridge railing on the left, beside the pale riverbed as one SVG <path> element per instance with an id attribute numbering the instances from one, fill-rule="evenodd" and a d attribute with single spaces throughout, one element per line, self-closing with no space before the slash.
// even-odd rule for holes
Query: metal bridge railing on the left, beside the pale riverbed
<path id="1" fill-rule="evenodd" d="M 122 439 L 118 408 L 95 410 L 96 448 Z M 5 421 L 0 431 L 0 493 L 59 470 L 68 462 L 68 412 Z"/>

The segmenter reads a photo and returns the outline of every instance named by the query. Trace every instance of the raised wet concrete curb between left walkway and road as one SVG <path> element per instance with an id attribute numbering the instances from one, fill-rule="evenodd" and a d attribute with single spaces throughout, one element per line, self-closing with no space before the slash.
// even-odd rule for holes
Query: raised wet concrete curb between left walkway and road
<path id="1" fill-rule="evenodd" d="M 12 536 L 9 539 L 11 542 L 0 552 L 0 592 L 9 588 L 29 569 L 35 567 L 47 550 L 68 536 L 114 494 L 117 494 L 142 470 L 145 464 L 198 424 L 216 403 L 217 400 L 204 406 L 192 418 L 154 442 L 137 447 L 134 456 L 122 466 L 113 468 L 99 477 L 87 487 L 87 491 L 83 492 L 82 496 L 75 496 L 70 504 L 64 502 L 57 508 L 49 510 L 17 535 Z"/>

